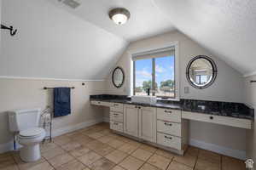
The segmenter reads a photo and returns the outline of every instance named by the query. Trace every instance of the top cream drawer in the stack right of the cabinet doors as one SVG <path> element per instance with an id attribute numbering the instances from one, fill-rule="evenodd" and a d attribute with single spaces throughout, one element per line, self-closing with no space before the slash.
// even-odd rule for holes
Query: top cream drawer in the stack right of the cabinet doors
<path id="1" fill-rule="evenodd" d="M 157 119 L 168 122 L 181 122 L 181 111 L 157 108 Z"/>

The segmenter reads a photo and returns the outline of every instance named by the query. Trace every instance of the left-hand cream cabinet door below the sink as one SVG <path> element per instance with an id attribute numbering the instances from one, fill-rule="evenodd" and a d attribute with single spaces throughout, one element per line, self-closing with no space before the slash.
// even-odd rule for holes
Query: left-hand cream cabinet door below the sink
<path id="1" fill-rule="evenodd" d="M 138 137 L 138 109 L 136 105 L 125 105 L 124 133 Z"/>

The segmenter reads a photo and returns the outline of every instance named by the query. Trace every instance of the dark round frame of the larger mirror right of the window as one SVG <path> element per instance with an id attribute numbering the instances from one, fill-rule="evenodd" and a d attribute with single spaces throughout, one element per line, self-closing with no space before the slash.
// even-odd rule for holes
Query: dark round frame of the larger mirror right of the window
<path id="1" fill-rule="evenodd" d="M 190 77 L 189 77 L 189 69 L 190 69 L 190 66 L 193 64 L 193 62 L 196 60 L 196 59 L 207 59 L 207 61 L 210 62 L 210 64 L 212 65 L 212 80 L 210 82 L 208 82 L 206 85 L 204 86 L 197 86 L 194 82 L 191 81 Z M 191 59 L 189 61 L 189 64 L 187 65 L 187 69 L 186 69 L 186 77 L 187 77 L 187 80 L 189 82 L 189 84 L 191 86 L 193 86 L 194 88 L 199 88 L 199 89 L 204 89 L 204 88 L 208 88 L 209 86 L 212 85 L 212 83 L 215 81 L 216 77 L 217 77 L 217 66 L 215 64 L 215 62 L 210 58 L 210 57 L 207 57 L 206 55 L 197 55 L 195 58 Z"/>

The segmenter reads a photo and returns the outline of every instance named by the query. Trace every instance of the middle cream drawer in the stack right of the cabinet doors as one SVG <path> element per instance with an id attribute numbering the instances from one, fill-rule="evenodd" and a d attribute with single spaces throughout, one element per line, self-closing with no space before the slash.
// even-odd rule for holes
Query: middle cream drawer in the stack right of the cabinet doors
<path id="1" fill-rule="evenodd" d="M 157 131 L 181 137 L 181 124 L 176 122 L 157 121 Z"/>

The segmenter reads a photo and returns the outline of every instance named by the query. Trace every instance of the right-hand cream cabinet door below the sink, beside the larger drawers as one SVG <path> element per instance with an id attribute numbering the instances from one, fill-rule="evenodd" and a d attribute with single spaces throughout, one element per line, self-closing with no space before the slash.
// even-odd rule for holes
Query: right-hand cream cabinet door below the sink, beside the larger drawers
<path id="1" fill-rule="evenodd" d="M 156 108 L 140 107 L 139 137 L 156 143 Z"/>

